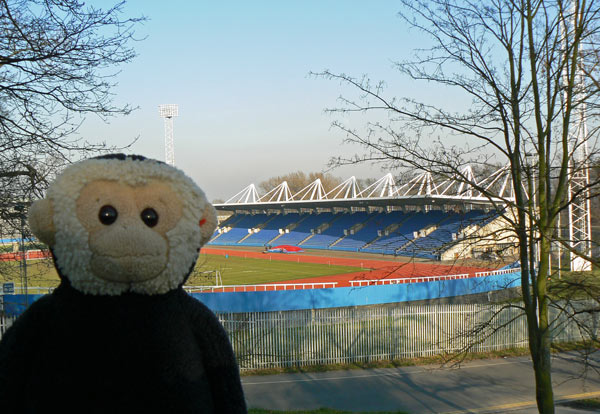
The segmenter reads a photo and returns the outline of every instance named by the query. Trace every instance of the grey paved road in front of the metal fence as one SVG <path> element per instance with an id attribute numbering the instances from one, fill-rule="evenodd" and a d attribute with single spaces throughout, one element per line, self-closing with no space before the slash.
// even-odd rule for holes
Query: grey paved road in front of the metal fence
<path id="1" fill-rule="evenodd" d="M 557 400 L 600 397 L 600 352 L 587 371 L 577 354 L 554 356 Z M 595 369 L 593 369 L 595 368 Z M 427 413 L 535 413 L 527 357 L 480 360 L 460 368 L 439 366 L 243 378 L 248 405 L 277 410 L 329 407 L 348 411 Z M 566 407 L 557 414 L 582 413 Z"/>

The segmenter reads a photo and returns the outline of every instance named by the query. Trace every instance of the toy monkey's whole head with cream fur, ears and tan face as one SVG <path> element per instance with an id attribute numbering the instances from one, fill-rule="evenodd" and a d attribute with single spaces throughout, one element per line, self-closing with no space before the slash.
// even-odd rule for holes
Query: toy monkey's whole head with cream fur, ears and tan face
<path id="1" fill-rule="evenodd" d="M 180 170 L 115 154 L 66 168 L 31 206 L 29 224 L 75 289 L 153 295 L 185 282 L 217 219 Z"/>

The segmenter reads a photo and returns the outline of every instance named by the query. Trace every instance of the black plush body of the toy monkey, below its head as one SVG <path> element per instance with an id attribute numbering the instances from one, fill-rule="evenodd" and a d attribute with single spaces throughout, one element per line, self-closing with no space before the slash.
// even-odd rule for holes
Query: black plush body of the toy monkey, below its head
<path id="1" fill-rule="evenodd" d="M 245 413 L 215 315 L 181 288 L 83 294 L 68 283 L 0 342 L 3 413 Z"/>

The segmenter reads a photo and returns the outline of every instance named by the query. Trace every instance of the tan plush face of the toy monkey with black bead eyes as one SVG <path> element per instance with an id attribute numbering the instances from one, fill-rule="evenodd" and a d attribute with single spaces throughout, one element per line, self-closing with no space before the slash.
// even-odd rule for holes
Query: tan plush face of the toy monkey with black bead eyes
<path id="1" fill-rule="evenodd" d="M 167 266 L 167 233 L 182 213 L 181 200 L 157 180 L 130 185 L 97 180 L 83 187 L 77 218 L 89 234 L 91 271 L 106 281 L 142 282 Z"/>

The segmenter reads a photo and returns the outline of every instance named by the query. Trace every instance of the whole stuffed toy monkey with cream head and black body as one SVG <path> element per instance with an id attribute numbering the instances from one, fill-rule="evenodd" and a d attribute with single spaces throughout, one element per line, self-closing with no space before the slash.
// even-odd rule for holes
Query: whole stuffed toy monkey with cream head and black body
<path id="1" fill-rule="evenodd" d="M 245 413 L 225 330 L 184 292 L 216 214 L 180 170 L 75 163 L 30 208 L 60 285 L 0 342 L 2 413 Z"/>

